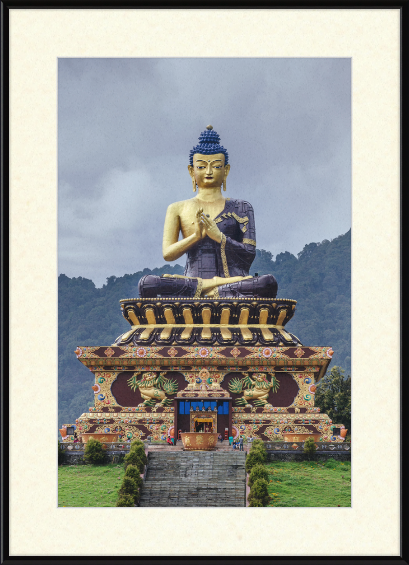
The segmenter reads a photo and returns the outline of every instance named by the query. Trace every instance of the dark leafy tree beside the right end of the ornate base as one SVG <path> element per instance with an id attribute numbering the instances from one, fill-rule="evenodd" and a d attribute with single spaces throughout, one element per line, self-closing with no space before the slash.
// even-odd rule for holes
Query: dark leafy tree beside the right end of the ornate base
<path id="1" fill-rule="evenodd" d="M 341 367 L 332 367 L 316 388 L 315 405 L 351 433 L 351 377 L 345 378 L 344 373 Z"/>

